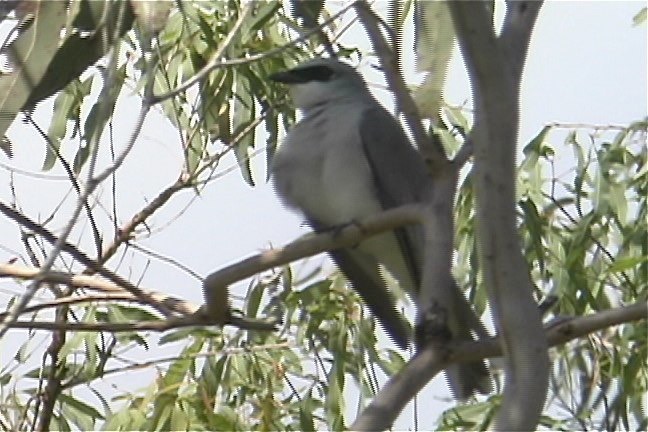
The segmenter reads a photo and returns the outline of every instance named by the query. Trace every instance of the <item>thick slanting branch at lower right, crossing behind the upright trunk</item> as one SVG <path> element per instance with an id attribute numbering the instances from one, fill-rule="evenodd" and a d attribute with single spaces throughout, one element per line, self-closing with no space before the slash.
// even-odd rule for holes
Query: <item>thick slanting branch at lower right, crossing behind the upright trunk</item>
<path id="1" fill-rule="evenodd" d="M 561 321 L 546 329 L 549 346 L 557 346 L 612 326 L 648 319 L 648 303 L 605 310 Z M 427 347 L 392 376 L 369 406 L 356 418 L 351 430 L 391 428 L 407 403 L 439 372 L 453 363 L 470 363 L 502 355 L 502 341 L 494 337 L 478 342 L 459 342 L 446 347 Z"/>

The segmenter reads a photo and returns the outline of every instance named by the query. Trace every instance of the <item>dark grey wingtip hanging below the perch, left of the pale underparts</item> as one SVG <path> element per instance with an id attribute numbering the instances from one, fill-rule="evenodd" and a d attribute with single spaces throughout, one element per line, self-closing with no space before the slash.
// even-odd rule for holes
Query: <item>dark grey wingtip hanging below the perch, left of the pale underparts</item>
<path id="1" fill-rule="evenodd" d="M 315 231 L 326 229 L 312 218 L 308 222 Z M 396 308 L 396 300 L 380 275 L 378 263 L 360 251 L 349 248 L 329 251 L 329 255 L 389 337 L 401 349 L 407 349 L 411 338 L 410 327 Z"/>

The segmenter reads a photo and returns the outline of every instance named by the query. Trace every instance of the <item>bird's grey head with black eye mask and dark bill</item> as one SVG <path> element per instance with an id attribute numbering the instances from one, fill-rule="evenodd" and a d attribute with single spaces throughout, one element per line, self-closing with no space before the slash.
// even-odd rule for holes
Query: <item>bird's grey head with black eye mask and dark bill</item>
<path id="1" fill-rule="evenodd" d="M 293 102 L 300 109 L 369 94 L 364 80 L 353 67 L 330 58 L 309 60 L 269 78 L 288 85 Z"/>

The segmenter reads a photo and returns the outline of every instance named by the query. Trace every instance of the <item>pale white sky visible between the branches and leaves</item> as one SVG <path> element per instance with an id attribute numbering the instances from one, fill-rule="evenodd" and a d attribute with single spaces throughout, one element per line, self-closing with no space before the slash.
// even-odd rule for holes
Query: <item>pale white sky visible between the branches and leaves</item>
<path id="1" fill-rule="evenodd" d="M 546 123 L 627 124 L 648 115 L 646 27 L 632 27 L 632 17 L 643 6 L 645 2 L 639 1 L 546 2 L 536 24 L 524 74 L 520 148 Z M 350 44 L 362 37 L 363 33 L 356 30 L 349 34 L 346 42 Z M 366 42 L 362 43 L 366 46 Z M 413 58 L 406 59 L 405 63 L 411 71 Z M 363 71 L 368 69 L 370 68 L 361 68 Z M 411 74 L 409 78 L 414 79 Z M 371 71 L 369 80 L 375 79 L 376 75 Z M 446 99 L 450 103 L 460 104 L 469 100 L 469 95 L 460 56 L 455 56 L 448 76 Z M 139 108 L 133 98 L 124 101 L 124 114 L 115 120 L 117 148 L 126 142 L 134 122 L 133 113 Z M 385 103 L 389 105 L 390 101 L 386 100 Z M 50 115 L 50 107 L 50 104 L 44 104 L 36 113 L 42 126 L 47 125 L 45 119 Z M 119 109 L 117 112 L 120 112 Z M 58 181 L 51 180 L 51 176 L 62 174 L 59 167 L 40 173 L 45 144 L 28 125 L 16 121 L 9 136 L 15 144 L 15 157 L 12 160 L 0 157 L 0 199 L 5 203 L 12 201 L 7 167 L 45 174 L 45 179 L 20 173 L 16 173 L 14 178 L 14 188 L 22 210 L 33 219 L 44 220 L 64 197 L 68 182 L 64 177 Z M 557 150 L 561 141 L 556 139 Z M 261 148 L 265 143 L 259 139 L 257 145 Z M 76 144 L 73 143 L 65 144 L 64 153 L 73 155 L 75 147 Z M 103 154 L 107 154 L 107 150 L 104 147 Z M 558 157 L 563 158 L 561 163 L 569 166 L 571 151 L 565 149 L 562 154 L 558 153 Z M 102 161 L 109 163 L 107 157 L 102 157 Z M 232 158 L 224 160 L 219 171 L 225 171 L 233 163 Z M 181 164 L 177 132 L 160 116 L 149 117 L 133 153 L 117 175 L 120 224 L 130 219 L 162 188 L 170 185 L 178 176 Z M 272 188 L 265 183 L 263 153 L 253 159 L 253 168 L 256 187 L 245 185 L 239 172 L 231 170 L 211 183 L 186 212 L 178 216 L 178 212 L 194 198 L 192 191 L 183 192 L 149 220 L 149 226 L 156 232 L 151 238 L 139 243 L 157 253 L 173 257 L 201 275 L 207 275 L 270 245 L 282 245 L 306 233 L 306 228 L 300 226 L 302 219 L 284 209 Z M 110 211 L 110 184 L 102 185 L 100 191 L 100 201 Z M 55 232 L 59 230 L 69 215 L 66 212 L 74 203 L 75 196 L 68 197 L 61 212 L 48 227 Z M 110 226 L 105 216 L 100 217 L 100 223 L 105 227 Z M 89 238 L 85 225 L 79 224 L 79 229 L 74 231 L 70 241 L 76 242 L 80 233 Z M 12 222 L 0 218 L 0 232 L 3 233 L 0 260 L 6 262 L 24 255 L 17 229 Z M 105 233 L 109 234 L 110 230 L 106 229 Z M 81 244 L 88 251 L 94 250 L 87 241 Z M 146 267 L 146 257 L 132 249 L 126 252 L 123 259 L 113 258 L 109 266 L 116 266 L 118 262 L 121 262 L 119 272 L 132 281 L 137 281 Z M 321 256 L 312 258 L 311 262 L 329 266 Z M 296 264 L 297 271 L 300 267 L 300 264 Z M 146 268 L 142 285 L 195 303 L 202 302 L 198 281 L 177 268 L 154 259 Z M 247 283 L 239 286 L 245 289 Z M 4 302 L 15 294 L 15 283 L 0 279 L 0 295 Z M 12 331 L 9 335 L 0 344 L 1 357 L 4 359 L 13 356 L 17 345 L 25 340 L 27 333 Z M 47 336 L 38 333 L 32 343 L 39 358 L 38 345 L 43 341 L 49 342 Z M 170 347 L 165 347 L 155 348 L 148 353 L 136 350 L 127 356 L 143 361 L 174 352 L 176 351 Z M 0 366 L 3 365 L 4 362 L 0 363 Z M 140 382 L 136 385 L 133 385 L 132 376 L 116 377 L 109 382 L 122 390 L 135 390 L 153 377 L 152 370 L 137 374 Z M 419 412 L 425 413 L 425 418 L 420 419 L 419 427 L 429 429 L 433 426 L 437 415 L 449 406 L 438 398 L 448 396 L 448 390 L 441 379 L 428 386 L 419 398 Z M 347 403 L 353 406 L 355 401 L 349 400 Z M 411 407 L 403 413 L 396 426 L 398 429 L 413 427 Z"/>

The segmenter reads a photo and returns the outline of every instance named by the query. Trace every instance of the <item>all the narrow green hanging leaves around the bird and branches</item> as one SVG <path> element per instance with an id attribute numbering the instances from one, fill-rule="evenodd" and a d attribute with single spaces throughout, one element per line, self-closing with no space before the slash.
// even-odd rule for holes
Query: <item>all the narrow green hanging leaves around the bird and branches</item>
<path id="1" fill-rule="evenodd" d="M 39 60 L 46 63 L 39 65 L 45 70 L 44 79 L 21 90 L 20 99 L 12 102 L 15 116 L 56 94 L 43 133 L 47 138 L 43 169 L 65 165 L 75 183 L 89 170 L 92 154 L 104 151 L 98 146 L 106 142 L 106 131 L 119 115 L 117 100 L 129 92 L 150 100 L 146 88 L 151 77 L 153 95 L 159 97 L 214 59 L 253 59 L 214 68 L 197 86 L 159 101 L 164 116 L 179 131 L 184 150 L 177 189 L 162 192 L 159 206 L 174 191 L 204 187 L 221 158 L 232 151 L 243 180 L 254 185 L 258 179 L 252 174 L 250 158 L 264 135 L 257 126 L 266 130 L 265 149 L 272 157 L 280 126 L 285 128 L 294 120 L 283 90 L 264 77 L 312 55 L 317 42 L 304 38 L 304 43 L 277 55 L 265 55 L 290 45 L 299 29 L 274 1 L 257 3 L 251 11 L 234 0 L 179 2 L 182 7 L 174 7 L 154 35 L 154 29 L 135 21 L 130 3 L 105 2 L 104 7 L 93 9 L 97 3 L 71 2 L 75 13 L 69 12 L 69 19 L 56 25 L 78 32 Z M 121 21 L 103 21 L 106 14 L 121 16 Z M 240 30 L 232 33 L 239 21 Z M 114 40 L 120 43 L 113 44 Z M 71 47 L 81 54 L 73 58 Z M 446 62 L 442 59 L 440 67 Z M 92 91 L 97 86 L 101 87 L 99 99 Z M 462 110 L 446 107 L 445 114 L 449 126 L 469 129 Z M 518 177 L 519 230 L 537 299 L 549 294 L 559 299 L 548 320 L 596 313 L 648 297 L 647 121 L 624 127 L 547 125 L 524 146 Z M 446 129 L 438 133 L 454 153 L 461 139 Z M 74 138 L 79 145 L 68 164 L 60 149 Z M 569 154 L 577 163 L 565 169 L 561 161 Z M 468 173 L 456 202 L 454 270 L 482 313 L 487 299 L 475 265 L 473 201 Z M 147 207 L 142 222 L 155 210 Z M 116 220 L 112 222 L 117 226 Z M 113 236 L 108 230 L 99 234 L 95 237 Z M 126 247 L 129 235 L 135 235 L 131 231 L 119 240 L 118 234 L 112 254 Z M 39 246 L 44 254 L 47 248 Z M 104 263 L 108 258 L 96 259 Z M 30 262 L 39 267 L 39 259 Z M 64 259 L 54 268 L 92 273 Z M 52 291 L 59 298 L 73 295 L 71 289 Z M 1 364 L 0 426 L 34 429 L 45 409 L 43 395 L 55 394 L 53 417 L 46 427 L 52 430 L 340 430 L 352 421 L 348 389 L 357 389 L 359 405 L 364 405 L 379 391 L 384 377 L 400 370 L 407 360 L 404 353 L 377 343 L 375 324 L 337 274 L 322 279 L 314 272 L 298 279 L 293 266 L 286 266 L 255 278 L 235 307 L 251 318 L 279 317 L 281 328 L 277 332 L 178 328 L 157 341 L 174 350 L 170 358 L 127 365 L 121 355 L 135 348 L 148 350 L 153 343 L 150 334 L 53 332 L 52 339 L 60 338 L 60 346 L 48 347 L 47 361 L 16 374 L 17 369 L 33 364 L 30 354 L 36 333 L 26 332 L 13 359 L 5 357 Z M 79 323 L 161 319 L 146 306 L 118 301 L 58 306 L 58 311 L 65 320 Z M 50 312 L 35 311 L 33 320 L 51 318 Z M 645 429 L 647 339 L 645 323 L 628 323 L 552 349 L 552 392 L 543 426 Z M 110 395 L 98 390 L 103 378 L 140 369 L 156 375 L 145 388 L 115 389 Z M 58 392 L 50 393 L 52 383 L 58 383 Z M 88 394 L 100 402 L 89 402 L 83 396 Z M 499 402 L 497 395 L 471 400 L 445 412 L 439 428 L 486 428 Z"/>

